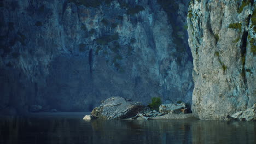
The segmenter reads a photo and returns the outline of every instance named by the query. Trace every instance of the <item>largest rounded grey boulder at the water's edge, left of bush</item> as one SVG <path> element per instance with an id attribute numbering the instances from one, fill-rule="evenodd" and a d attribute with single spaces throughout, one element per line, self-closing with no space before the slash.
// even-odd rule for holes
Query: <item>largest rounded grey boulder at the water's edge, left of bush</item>
<path id="1" fill-rule="evenodd" d="M 142 103 L 121 97 L 112 97 L 102 101 L 100 106 L 95 107 L 91 112 L 91 117 L 101 119 L 130 118 L 145 109 L 146 107 Z"/>

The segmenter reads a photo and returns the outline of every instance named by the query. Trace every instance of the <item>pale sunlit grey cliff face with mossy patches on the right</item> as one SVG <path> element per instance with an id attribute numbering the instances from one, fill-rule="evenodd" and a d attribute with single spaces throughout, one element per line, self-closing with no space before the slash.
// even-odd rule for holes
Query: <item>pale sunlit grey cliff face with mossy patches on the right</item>
<path id="1" fill-rule="evenodd" d="M 191 1 L 189 46 L 193 55 L 193 112 L 225 119 L 256 103 L 255 1 Z"/>

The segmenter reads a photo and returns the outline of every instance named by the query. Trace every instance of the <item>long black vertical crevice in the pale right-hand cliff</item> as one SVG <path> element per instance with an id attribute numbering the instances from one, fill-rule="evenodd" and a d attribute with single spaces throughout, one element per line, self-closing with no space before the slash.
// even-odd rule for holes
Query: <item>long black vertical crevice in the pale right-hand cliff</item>
<path id="1" fill-rule="evenodd" d="M 242 39 L 241 39 L 241 45 L 240 45 L 240 50 L 241 50 L 241 59 L 242 59 L 242 77 L 243 77 L 243 82 L 246 84 L 246 69 L 245 69 L 245 63 L 246 63 L 246 46 L 247 46 L 247 37 L 248 37 L 248 32 L 244 31 L 242 34 Z"/>

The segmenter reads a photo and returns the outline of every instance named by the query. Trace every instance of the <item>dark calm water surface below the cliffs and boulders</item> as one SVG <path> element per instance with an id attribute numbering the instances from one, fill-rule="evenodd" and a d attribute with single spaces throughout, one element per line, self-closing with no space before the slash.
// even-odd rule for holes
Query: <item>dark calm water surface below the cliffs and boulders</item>
<path id="1" fill-rule="evenodd" d="M 256 143 L 255 122 L 1 117 L 0 143 Z"/>

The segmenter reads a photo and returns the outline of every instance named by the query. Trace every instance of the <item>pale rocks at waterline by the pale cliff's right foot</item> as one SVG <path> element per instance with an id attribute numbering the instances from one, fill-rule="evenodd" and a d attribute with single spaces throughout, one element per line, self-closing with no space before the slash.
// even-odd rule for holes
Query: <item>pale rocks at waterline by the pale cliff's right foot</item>
<path id="1" fill-rule="evenodd" d="M 238 111 L 230 116 L 240 121 L 255 121 L 256 120 L 256 103 L 245 111 Z"/>

